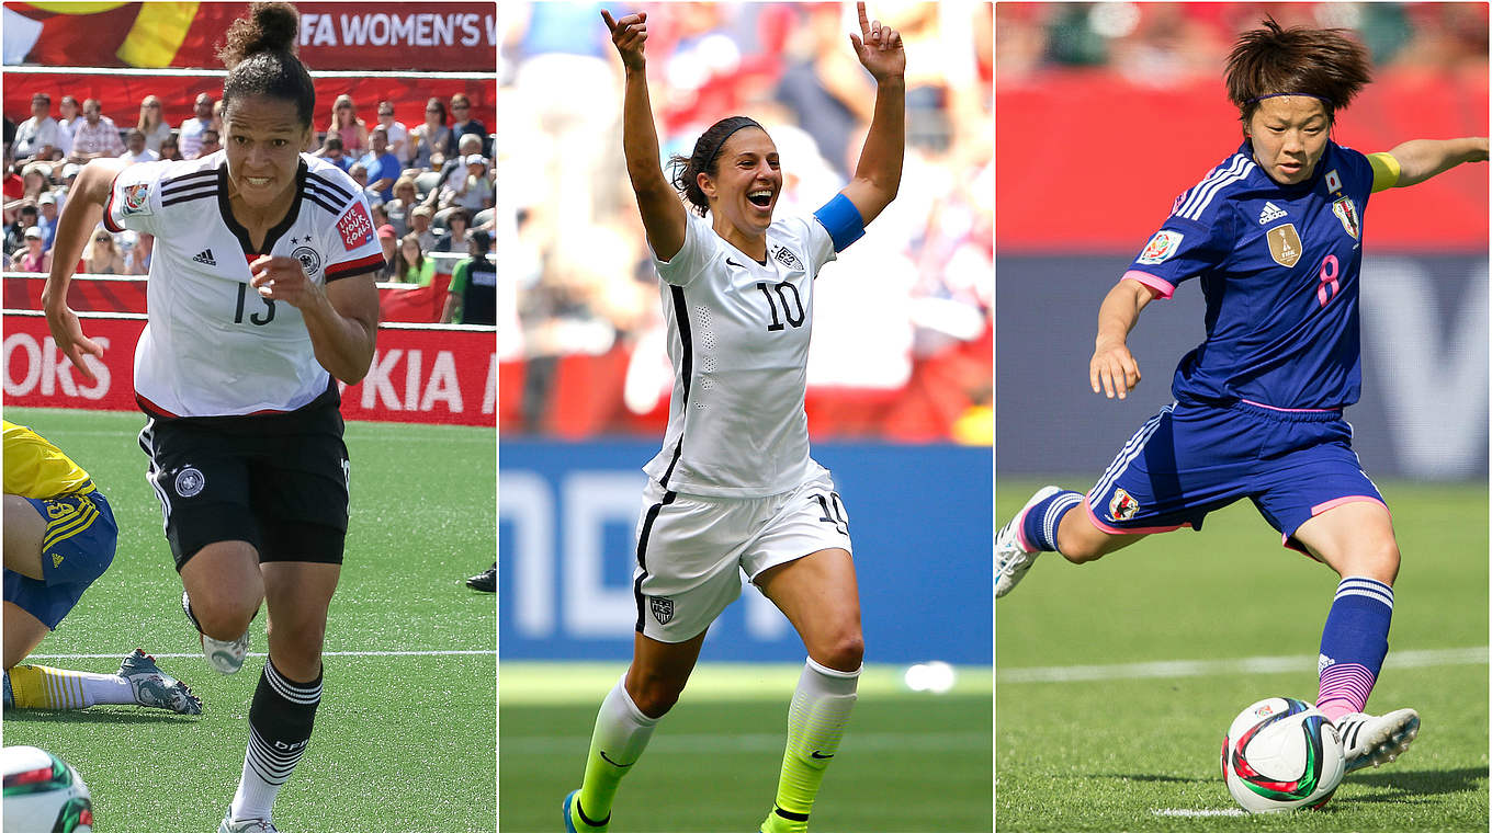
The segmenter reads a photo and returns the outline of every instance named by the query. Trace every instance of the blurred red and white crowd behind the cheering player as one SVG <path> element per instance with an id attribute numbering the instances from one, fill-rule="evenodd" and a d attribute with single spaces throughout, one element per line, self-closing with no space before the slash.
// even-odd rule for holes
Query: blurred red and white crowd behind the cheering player
<path id="1" fill-rule="evenodd" d="M 521 381 L 504 387 L 500 425 L 655 432 L 673 377 L 622 165 L 621 64 L 601 4 L 513 6 L 498 66 L 498 352 L 521 368 Z M 749 112 L 782 155 L 779 213 L 812 212 L 844 185 L 874 101 L 873 80 L 847 49 L 852 3 L 625 10 L 651 13 L 664 156 L 688 153 L 715 119 Z M 909 55 L 906 174 L 874 238 L 846 250 L 819 282 L 810 426 L 819 435 L 988 441 L 992 4 L 877 13 L 903 33 Z M 824 401 L 815 389 L 844 395 Z M 577 413 L 588 416 L 577 422 Z"/>

